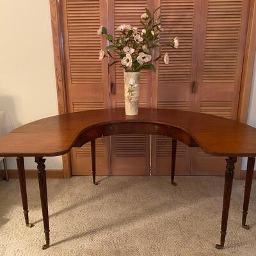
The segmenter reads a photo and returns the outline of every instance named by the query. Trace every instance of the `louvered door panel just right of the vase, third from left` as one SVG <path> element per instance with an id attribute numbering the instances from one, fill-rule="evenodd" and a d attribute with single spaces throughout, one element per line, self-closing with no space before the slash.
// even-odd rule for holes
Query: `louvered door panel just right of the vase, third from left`
<path id="1" fill-rule="evenodd" d="M 170 64 L 159 61 L 154 90 L 154 107 L 166 109 L 194 110 L 195 95 L 191 86 L 196 79 L 196 49 L 201 1 L 194 0 L 158 0 L 155 6 L 161 6 L 161 52 L 169 53 Z M 179 49 L 165 46 L 175 37 L 179 37 Z M 152 138 L 152 174 L 170 174 L 172 140 L 161 136 Z M 177 143 L 176 173 L 188 174 L 191 150 Z"/>

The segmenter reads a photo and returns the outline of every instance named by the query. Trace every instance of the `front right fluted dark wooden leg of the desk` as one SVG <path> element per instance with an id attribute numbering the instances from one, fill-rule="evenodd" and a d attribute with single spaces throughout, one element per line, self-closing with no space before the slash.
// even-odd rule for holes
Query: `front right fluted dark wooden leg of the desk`
<path id="1" fill-rule="evenodd" d="M 225 237 L 227 234 L 228 212 L 229 212 L 236 157 L 228 157 L 226 161 L 227 161 L 227 165 L 226 165 L 227 170 L 225 173 L 225 185 L 224 185 L 224 195 L 223 195 L 221 232 L 220 232 L 221 238 L 220 238 L 220 244 L 216 244 L 217 249 L 223 249 L 225 244 Z"/>

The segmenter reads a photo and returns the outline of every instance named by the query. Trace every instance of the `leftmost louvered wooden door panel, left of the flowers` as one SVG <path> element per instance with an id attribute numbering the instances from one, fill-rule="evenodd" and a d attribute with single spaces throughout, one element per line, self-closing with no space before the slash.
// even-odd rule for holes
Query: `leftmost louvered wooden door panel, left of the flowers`
<path id="1" fill-rule="evenodd" d="M 98 60 L 106 41 L 97 36 L 100 24 L 107 26 L 106 1 L 62 1 L 63 41 L 67 63 L 68 111 L 109 107 L 108 61 Z M 97 174 L 110 173 L 109 138 L 96 140 Z M 72 174 L 91 175 L 90 143 L 73 148 Z"/>

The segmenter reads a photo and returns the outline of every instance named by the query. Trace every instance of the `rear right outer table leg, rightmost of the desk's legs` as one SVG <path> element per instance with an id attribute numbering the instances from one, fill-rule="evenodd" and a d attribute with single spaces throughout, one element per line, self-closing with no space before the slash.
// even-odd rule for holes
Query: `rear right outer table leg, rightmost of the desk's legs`
<path id="1" fill-rule="evenodd" d="M 255 164 L 255 157 L 248 157 L 247 170 L 246 170 L 246 180 L 245 180 L 245 189 L 244 189 L 243 220 L 242 220 L 242 225 L 245 229 L 250 228 L 248 225 L 246 225 L 246 217 L 247 217 L 249 201 L 250 201 L 250 194 L 251 194 L 251 188 L 252 188 L 252 178 L 253 178 L 254 164 Z"/>

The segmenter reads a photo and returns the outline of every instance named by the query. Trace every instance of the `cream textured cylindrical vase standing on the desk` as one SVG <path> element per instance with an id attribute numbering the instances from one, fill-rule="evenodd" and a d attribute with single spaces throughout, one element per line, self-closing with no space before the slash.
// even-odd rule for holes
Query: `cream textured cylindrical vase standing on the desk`
<path id="1" fill-rule="evenodd" d="M 124 71 L 125 115 L 136 116 L 139 110 L 140 72 Z"/>

